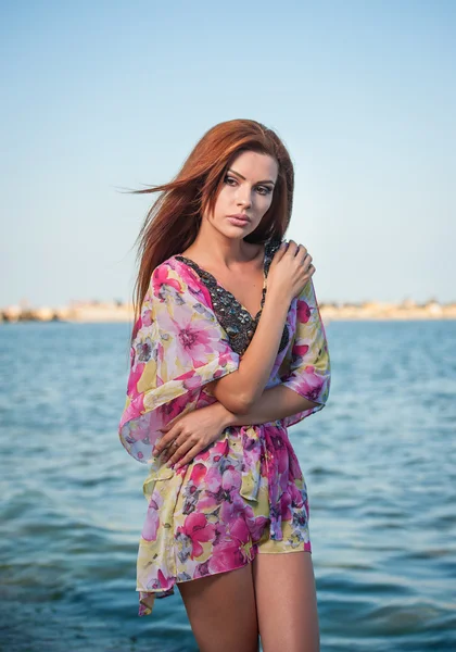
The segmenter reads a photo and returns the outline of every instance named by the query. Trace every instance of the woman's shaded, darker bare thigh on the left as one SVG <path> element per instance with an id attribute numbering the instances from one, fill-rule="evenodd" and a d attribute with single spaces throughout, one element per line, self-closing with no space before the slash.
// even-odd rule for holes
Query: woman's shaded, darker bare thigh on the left
<path id="1" fill-rule="evenodd" d="M 257 652 L 252 564 L 177 584 L 200 652 Z"/>

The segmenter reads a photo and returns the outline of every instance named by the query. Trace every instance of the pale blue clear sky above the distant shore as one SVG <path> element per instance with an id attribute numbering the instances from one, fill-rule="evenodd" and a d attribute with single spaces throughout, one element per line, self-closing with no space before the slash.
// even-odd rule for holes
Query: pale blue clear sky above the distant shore
<path id="1" fill-rule="evenodd" d="M 319 302 L 456 301 L 456 2 L 0 1 L 0 308 L 129 301 L 135 240 L 203 134 L 295 171 Z"/>

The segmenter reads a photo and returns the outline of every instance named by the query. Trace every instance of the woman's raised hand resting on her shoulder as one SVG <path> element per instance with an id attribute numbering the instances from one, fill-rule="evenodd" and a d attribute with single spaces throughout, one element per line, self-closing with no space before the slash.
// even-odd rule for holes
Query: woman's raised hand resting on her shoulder
<path id="1" fill-rule="evenodd" d="M 288 246 L 287 246 L 288 244 Z M 312 255 L 304 244 L 289 240 L 274 254 L 267 276 L 267 294 L 297 297 L 315 272 Z"/>

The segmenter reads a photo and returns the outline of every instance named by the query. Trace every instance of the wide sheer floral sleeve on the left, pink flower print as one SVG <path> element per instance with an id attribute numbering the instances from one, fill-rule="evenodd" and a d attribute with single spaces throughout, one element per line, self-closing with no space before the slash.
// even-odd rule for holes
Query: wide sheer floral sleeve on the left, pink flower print
<path id="1" fill-rule="evenodd" d="M 239 368 L 240 356 L 197 277 L 177 262 L 159 265 L 135 325 L 118 435 L 144 464 L 153 461 L 159 429 L 193 410 L 204 385 Z"/>

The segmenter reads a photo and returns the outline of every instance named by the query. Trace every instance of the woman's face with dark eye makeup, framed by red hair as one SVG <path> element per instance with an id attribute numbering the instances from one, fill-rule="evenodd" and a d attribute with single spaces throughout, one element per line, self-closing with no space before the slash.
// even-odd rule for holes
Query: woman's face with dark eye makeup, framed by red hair
<path id="1" fill-rule="evenodd" d="M 279 166 L 276 159 L 257 152 L 241 152 L 230 164 L 210 223 L 229 238 L 245 238 L 269 209 Z M 235 223 L 232 215 L 246 221 Z"/>

